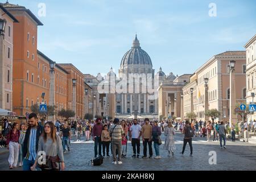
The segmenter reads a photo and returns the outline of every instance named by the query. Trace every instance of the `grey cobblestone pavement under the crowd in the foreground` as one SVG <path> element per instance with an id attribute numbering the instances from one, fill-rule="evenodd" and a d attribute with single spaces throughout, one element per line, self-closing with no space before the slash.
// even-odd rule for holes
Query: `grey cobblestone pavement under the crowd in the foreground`
<path id="1" fill-rule="evenodd" d="M 75 138 L 74 138 L 75 139 Z M 162 134 L 164 141 L 164 135 Z M 99 167 L 93 167 L 89 164 L 89 160 L 94 156 L 93 141 L 84 142 L 82 137 L 81 142 L 71 142 L 71 152 L 64 154 L 65 166 L 68 171 L 176 171 L 176 170 L 256 170 L 256 146 L 243 142 L 227 142 L 227 149 L 221 149 L 219 142 L 207 142 L 206 138 L 193 138 L 193 156 L 189 156 L 189 145 L 187 144 L 184 155 L 179 152 L 183 147 L 183 135 L 177 133 L 175 136 L 177 150 L 175 155 L 168 157 L 168 151 L 163 150 L 163 145 L 160 146 L 160 155 L 162 159 L 142 159 L 131 158 L 133 153 L 131 143 L 127 146 L 127 157 L 122 160 L 123 164 L 112 164 L 112 158 L 105 158 L 104 164 Z M 209 152 L 216 151 L 217 164 L 209 164 Z M 153 147 L 153 152 L 154 147 Z M 141 144 L 141 156 L 143 146 Z M 8 169 L 8 155 L 0 155 L 0 170 Z M 88 165 L 89 164 L 89 165 Z M 21 170 L 16 168 L 12 170 Z"/>

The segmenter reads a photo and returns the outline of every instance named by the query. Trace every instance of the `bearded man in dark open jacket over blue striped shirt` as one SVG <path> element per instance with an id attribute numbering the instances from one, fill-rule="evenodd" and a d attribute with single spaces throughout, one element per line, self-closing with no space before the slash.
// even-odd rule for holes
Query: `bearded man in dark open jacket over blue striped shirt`
<path id="1" fill-rule="evenodd" d="M 31 113 L 28 116 L 29 127 L 27 129 L 23 143 L 23 171 L 30 171 L 30 167 L 35 163 L 38 140 L 43 133 L 43 126 L 38 123 L 38 116 Z"/>

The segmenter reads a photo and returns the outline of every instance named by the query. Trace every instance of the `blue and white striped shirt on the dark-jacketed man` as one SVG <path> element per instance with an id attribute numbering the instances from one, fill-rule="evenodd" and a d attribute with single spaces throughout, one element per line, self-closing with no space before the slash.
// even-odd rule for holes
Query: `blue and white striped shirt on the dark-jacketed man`
<path id="1" fill-rule="evenodd" d="M 35 160 L 36 159 L 36 130 L 37 129 L 31 129 L 30 130 L 30 139 L 28 142 L 28 151 L 27 151 L 27 160 Z"/>

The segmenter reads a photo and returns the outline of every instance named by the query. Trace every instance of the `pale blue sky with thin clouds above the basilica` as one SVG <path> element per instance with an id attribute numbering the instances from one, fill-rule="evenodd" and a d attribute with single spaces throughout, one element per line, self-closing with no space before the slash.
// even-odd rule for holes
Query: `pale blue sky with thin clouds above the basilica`
<path id="1" fill-rule="evenodd" d="M 9 0 L 38 16 L 38 49 L 82 73 L 118 73 L 137 32 L 155 72 L 193 73 L 213 55 L 244 50 L 256 34 L 256 1 L 216 0 Z M 209 4 L 217 16 L 210 17 Z"/>

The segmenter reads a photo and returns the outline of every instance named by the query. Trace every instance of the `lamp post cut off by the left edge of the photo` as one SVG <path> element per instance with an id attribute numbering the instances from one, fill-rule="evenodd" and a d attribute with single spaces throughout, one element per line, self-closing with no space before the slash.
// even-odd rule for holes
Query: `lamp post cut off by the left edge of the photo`
<path id="1" fill-rule="evenodd" d="M 0 108 L 5 109 L 5 75 L 3 63 L 3 39 L 5 36 L 6 19 L 0 18 Z"/>

